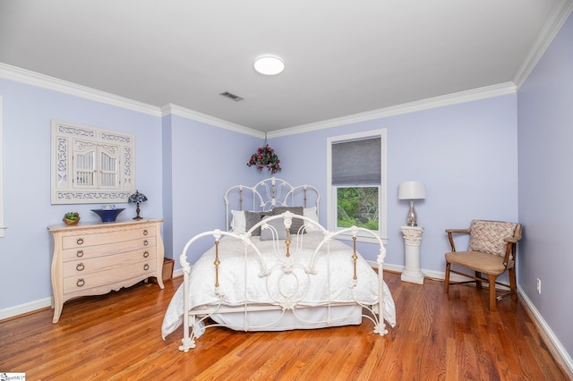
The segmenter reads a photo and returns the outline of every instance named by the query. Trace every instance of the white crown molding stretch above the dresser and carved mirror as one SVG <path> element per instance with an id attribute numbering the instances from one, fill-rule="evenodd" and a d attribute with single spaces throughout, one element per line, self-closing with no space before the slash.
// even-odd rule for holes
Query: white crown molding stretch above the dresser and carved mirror
<path id="1" fill-rule="evenodd" d="M 126 108 L 143 114 L 154 116 L 161 115 L 161 111 L 158 106 L 150 106 L 127 97 L 120 97 L 105 91 L 91 89 L 87 86 L 78 85 L 67 80 L 59 80 L 38 72 L 30 72 L 29 70 L 21 69 L 5 63 L 0 63 L 0 78 L 15 80 L 38 88 L 58 91 L 74 97 L 83 97 L 96 102 Z"/>

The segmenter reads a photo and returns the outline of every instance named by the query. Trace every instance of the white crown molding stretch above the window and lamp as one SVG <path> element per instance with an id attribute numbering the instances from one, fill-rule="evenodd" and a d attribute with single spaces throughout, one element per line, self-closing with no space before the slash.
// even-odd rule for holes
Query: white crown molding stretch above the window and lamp
<path id="1" fill-rule="evenodd" d="M 431 108 L 472 102 L 475 100 L 484 99 L 488 97 L 500 97 L 503 95 L 515 94 L 516 91 L 517 87 L 513 82 L 505 82 L 497 85 L 486 86 L 479 89 L 460 91 L 457 93 L 452 93 L 440 97 L 431 97 L 427 99 L 422 99 L 398 106 L 389 106 L 385 108 L 379 108 L 377 110 L 367 111 L 364 113 L 350 114 L 317 123 L 308 123 L 282 130 L 269 131 L 268 136 L 269 138 L 277 138 L 279 136 L 294 135 L 301 132 L 321 130 L 330 127 L 337 127 L 344 124 L 361 123 L 366 121 L 372 121 L 374 119 L 388 118 L 389 116 L 415 113 L 416 111 L 423 111 Z"/>

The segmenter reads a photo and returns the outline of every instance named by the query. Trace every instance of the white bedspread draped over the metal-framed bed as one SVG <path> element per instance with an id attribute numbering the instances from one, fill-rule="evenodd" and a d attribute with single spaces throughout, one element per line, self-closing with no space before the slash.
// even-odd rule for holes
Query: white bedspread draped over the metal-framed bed
<path id="1" fill-rule="evenodd" d="M 316 274 L 307 274 L 306 269 L 312 253 L 323 238 L 321 232 L 301 234 L 304 245 L 297 249 L 296 236 L 292 239 L 292 273 L 285 274 L 285 245 L 278 241 L 279 251 L 273 253 L 273 241 L 252 242 L 266 253 L 263 262 L 251 247 L 233 237 L 224 237 L 219 243 L 219 289 L 222 301 L 227 306 L 240 306 L 244 302 L 281 305 L 296 301 L 297 307 L 325 306 L 329 302 L 359 301 L 364 305 L 378 302 L 378 275 L 368 263 L 358 256 L 356 263 L 356 285 L 353 284 L 352 248 L 342 241 L 332 240 L 323 246 L 316 257 Z M 276 244 L 276 242 L 275 242 Z M 247 248 L 245 263 L 245 248 Z M 192 266 L 190 275 L 190 306 L 194 309 L 218 303 L 215 293 L 215 249 L 204 253 Z M 264 265 L 264 266 L 262 266 Z M 269 270 L 268 276 L 261 276 L 261 268 Z M 184 284 L 175 292 L 163 320 L 161 332 L 165 338 L 183 323 Z M 354 298 L 353 298 L 354 292 Z M 383 284 L 384 319 L 390 326 L 396 325 L 394 301 L 386 284 Z"/>

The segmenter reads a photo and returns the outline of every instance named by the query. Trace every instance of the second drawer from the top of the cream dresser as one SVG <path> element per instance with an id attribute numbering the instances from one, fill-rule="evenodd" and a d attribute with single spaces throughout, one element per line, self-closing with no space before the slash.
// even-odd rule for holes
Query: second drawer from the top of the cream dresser
<path id="1" fill-rule="evenodd" d="M 65 237 L 69 238 L 69 237 Z M 149 250 L 155 252 L 157 237 L 137 238 L 132 241 L 116 242 L 113 245 L 97 245 L 76 247 L 74 249 L 62 250 L 62 259 L 64 262 L 77 259 L 97 258 L 119 254 L 125 251 Z"/>

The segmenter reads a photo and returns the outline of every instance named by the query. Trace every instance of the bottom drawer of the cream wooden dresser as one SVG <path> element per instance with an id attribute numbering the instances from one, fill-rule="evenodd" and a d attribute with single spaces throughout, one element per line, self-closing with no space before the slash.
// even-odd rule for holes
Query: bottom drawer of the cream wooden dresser
<path id="1" fill-rule="evenodd" d="M 108 268 L 105 271 L 85 275 L 74 275 L 64 278 L 64 295 L 66 293 L 89 290 L 101 285 L 113 284 L 119 279 L 134 277 L 145 278 L 146 275 L 156 273 L 156 261 L 143 260 L 141 262 L 127 263 L 121 267 Z"/>

